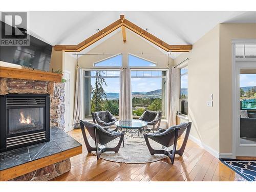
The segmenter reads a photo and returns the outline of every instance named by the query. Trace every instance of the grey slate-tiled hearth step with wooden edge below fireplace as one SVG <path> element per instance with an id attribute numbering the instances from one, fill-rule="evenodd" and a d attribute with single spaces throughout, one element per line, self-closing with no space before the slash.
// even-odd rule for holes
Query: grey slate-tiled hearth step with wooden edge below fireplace
<path id="1" fill-rule="evenodd" d="M 57 127 L 51 141 L 0 154 L 0 181 L 6 181 L 82 153 L 82 145 Z"/>

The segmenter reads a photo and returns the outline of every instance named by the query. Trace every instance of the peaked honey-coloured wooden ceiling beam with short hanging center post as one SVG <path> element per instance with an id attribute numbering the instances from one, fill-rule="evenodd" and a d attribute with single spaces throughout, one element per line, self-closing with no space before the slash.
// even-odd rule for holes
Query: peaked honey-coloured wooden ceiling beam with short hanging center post
<path id="1" fill-rule="evenodd" d="M 95 33 L 88 39 L 80 42 L 80 44 L 78 45 L 56 45 L 54 46 L 54 49 L 56 51 L 80 52 L 81 50 L 94 44 L 94 42 L 98 41 L 104 36 L 115 31 L 119 27 L 121 27 L 122 29 L 123 42 L 126 42 L 126 32 L 125 32 L 125 27 L 126 27 L 127 29 L 130 29 L 131 31 L 137 33 L 138 35 L 144 37 L 148 41 L 152 42 L 153 44 L 157 45 L 158 47 L 162 48 L 167 52 L 188 52 L 192 49 L 192 45 L 168 45 L 166 42 L 162 41 L 161 39 L 157 38 L 151 33 L 148 33 L 147 31 L 143 30 L 139 26 L 125 19 L 124 15 L 120 15 L 120 19 L 118 19 L 116 22 L 112 23 L 108 27 L 105 27 L 101 31 Z"/>

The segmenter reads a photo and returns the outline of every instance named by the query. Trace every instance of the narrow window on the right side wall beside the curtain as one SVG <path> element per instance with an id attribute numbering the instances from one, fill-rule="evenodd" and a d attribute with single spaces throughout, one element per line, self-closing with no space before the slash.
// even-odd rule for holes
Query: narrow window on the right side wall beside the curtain
<path id="1" fill-rule="evenodd" d="M 187 90 L 188 90 L 188 68 L 180 68 L 180 113 L 187 115 L 188 101 L 187 101 Z"/>

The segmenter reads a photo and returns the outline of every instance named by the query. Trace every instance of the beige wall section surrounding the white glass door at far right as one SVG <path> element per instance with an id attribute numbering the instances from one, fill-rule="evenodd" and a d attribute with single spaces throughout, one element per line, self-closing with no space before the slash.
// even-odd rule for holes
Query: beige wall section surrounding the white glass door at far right
<path id="1" fill-rule="evenodd" d="M 220 153 L 232 152 L 232 39 L 256 38 L 256 24 L 220 24 Z"/>

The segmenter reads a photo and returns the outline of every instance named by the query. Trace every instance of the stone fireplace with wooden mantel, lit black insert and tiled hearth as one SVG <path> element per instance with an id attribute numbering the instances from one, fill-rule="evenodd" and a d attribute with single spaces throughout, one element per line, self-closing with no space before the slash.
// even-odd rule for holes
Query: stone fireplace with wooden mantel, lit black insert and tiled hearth
<path id="1" fill-rule="evenodd" d="M 68 172 L 69 158 L 82 153 L 81 144 L 63 131 L 61 78 L 62 74 L 0 67 L 0 113 L 5 116 L 5 123 L 0 122 L 0 148 L 3 141 L 14 147 L 0 153 L 0 181 L 50 180 Z M 28 143 L 30 139 L 41 142 Z M 13 145 L 16 141 L 26 145 Z"/>

